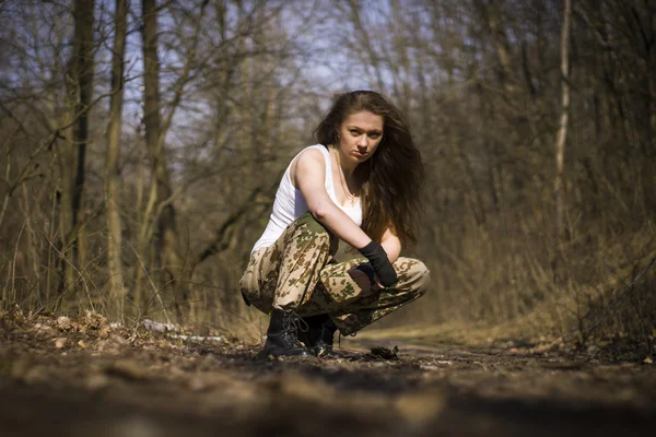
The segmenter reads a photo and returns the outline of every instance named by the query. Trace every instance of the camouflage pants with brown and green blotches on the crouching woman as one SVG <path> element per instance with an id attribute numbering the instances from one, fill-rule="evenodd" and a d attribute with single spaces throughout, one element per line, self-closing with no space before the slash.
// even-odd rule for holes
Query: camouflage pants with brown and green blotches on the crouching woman
<path id="1" fill-rule="evenodd" d="M 355 269 L 366 259 L 336 262 L 337 244 L 309 213 L 301 215 L 273 245 L 250 256 L 239 282 L 244 297 L 266 314 L 273 307 L 302 317 L 328 314 L 348 335 L 425 293 L 430 272 L 423 262 L 399 257 L 394 263 L 398 283 L 372 286 Z"/>

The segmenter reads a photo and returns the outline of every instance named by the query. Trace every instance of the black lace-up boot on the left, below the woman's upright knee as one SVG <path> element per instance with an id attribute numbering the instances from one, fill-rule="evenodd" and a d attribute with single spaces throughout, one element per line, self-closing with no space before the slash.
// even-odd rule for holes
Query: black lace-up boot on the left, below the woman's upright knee
<path id="1" fill-rule="evenodd" d="M 307 331 L 306 323 L 298 315 L 292 310 L 273 308 L 260 357 L 312 356 L 313 353 L 298 341 L 298 330 Z"/>

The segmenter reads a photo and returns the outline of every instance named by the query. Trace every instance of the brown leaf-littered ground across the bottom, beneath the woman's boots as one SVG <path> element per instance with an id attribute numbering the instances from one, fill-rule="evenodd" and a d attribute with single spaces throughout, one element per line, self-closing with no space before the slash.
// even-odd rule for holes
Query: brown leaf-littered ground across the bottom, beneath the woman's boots
<path id="1" fill-rule="evenodd" d="M 374 332 L 337 357 L 270 362 L 97 315 L 0 322 L 2 436 L 646 436 L 656 423 L 651 358 L 595 347 Z"/>

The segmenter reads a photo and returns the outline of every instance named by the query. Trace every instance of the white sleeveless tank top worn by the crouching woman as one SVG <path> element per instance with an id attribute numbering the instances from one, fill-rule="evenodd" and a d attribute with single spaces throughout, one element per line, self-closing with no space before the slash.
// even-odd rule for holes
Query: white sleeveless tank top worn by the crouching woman
<path id="1" fill-rule="evenodd" d="M 284 172 L 282 180 L 280 181 L 280 186 L 278 187 L 278 191 L 276 192 L 276 200 L 273 201 L 273 210 L 271 211 L 269 223 L 267 224 L 262 236 L 256 241 L 250 253 L 255 252 L 257 249 L 271 246 L 273 243 L 276 243 L 284 229 L 294 220 L 308 210 L 305 198 L 301 193 L 301 190 L 294 188 L 294 185 L 292 184 L 292 177 L 290 175 L 292 164 L 296 157 L 298 157 L 301 153 L 308 149 L 320 150 L 324 154 L 324 158 L 326 161 L 326 191 L 328 192 L 330 200 L 332 200 L 332 202 L 335 202 L 340 210 L 347 213 L 347 215 L 351 217 L 353 222 L 358 224 L 358 226 L 362 226 L 362 204 L 360 200 L 358 200 L 358 203 L 353 206 L 341 206 L 338 203 L 337 197 L 335 196 L 335 186 L 332 185 L 332 164 L 330 162 L 330 153 L 325 145 L 315 144 L 298 152 Z"/>

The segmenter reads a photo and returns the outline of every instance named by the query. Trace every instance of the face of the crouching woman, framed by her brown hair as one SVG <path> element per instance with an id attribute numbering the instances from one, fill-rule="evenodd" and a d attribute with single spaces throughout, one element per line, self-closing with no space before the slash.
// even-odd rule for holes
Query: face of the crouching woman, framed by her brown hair
<path id="1" fill-rule="evenodd" d="M 360 164 L 373 156 L 383 140 L 383 117 L 367 110 L 344 118 L 339 127 L 342 160 Z"/>

